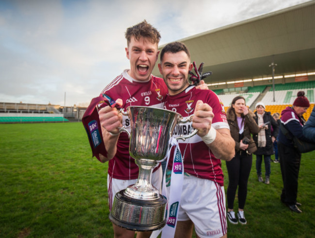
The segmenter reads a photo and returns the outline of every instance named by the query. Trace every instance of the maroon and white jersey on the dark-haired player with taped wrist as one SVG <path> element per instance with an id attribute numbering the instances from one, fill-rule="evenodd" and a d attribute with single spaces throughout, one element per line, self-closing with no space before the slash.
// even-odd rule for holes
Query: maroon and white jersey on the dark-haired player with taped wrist
<path id="1" fill-rule="evenodd" d="M 211 90 L 196 89 L 189 86 L 185 91 L 177 95 L 167 95 L 165 108 L 181 114 L 184 118 L 191 116 L 195 110 L 198 100 L 208 103 L 214 113 L 212 127 L 215 129 L 229 128 L 226 120 L 224 106 L 219 97 Z M 192 122 L 176 125 L 173 136 L 187 136 L 194 129 Z M 209 179 L 223 186 L 223 172 L 221 169 L 221 160 L 217 159 L 198 135 L 192 136 L 186 141 L 178 140 L 180 151 L 184 158 L 185 172 L 196 177 Z M 173 154 L 173 153 L 171 153 Z M 169 162 L 168 168 L 171 169 L 173 160 Z"/>

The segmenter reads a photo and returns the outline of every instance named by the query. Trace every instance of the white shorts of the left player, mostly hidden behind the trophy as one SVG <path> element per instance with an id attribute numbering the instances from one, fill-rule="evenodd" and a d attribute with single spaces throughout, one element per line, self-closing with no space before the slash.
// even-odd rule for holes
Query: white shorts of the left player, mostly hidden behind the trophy
<path id="1" fill-rule="evenodd" d="M 157 190 L 161 193 L 161 185 L 162 185 L 162 166 L 154 171 L 151 175 L 151 183 Z M 135 184 L 138 179 L 115 179 L 107 175 L 107 191 L 108 191 L 108 200 L 110 205 L 110 210 L 112 203 L 114 201 L 115 194 L 120 190 L 126 189 L 129 185 Z"/>

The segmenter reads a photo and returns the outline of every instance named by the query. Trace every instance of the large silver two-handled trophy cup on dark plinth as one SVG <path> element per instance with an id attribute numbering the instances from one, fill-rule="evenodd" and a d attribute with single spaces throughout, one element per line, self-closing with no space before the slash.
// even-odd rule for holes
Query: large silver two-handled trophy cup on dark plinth
<path id="1" fill-rule="evenodd" d="M 115 194 L 110 221 L 135 231 L 158 230 L 165 225 L 166 199 L 151 184 L 152 170 L 163 161 L 170 147 L 170 138 L 176 124 L 191 121 L 176 112 L 144 106 L 129 106 L 121 113 L 130 119 L 130 133 L 123 127 L 129 138 L 129 153 L 139 167 L 138 181 Z M 194 136 L 176 139 L 185 140 Z"/>

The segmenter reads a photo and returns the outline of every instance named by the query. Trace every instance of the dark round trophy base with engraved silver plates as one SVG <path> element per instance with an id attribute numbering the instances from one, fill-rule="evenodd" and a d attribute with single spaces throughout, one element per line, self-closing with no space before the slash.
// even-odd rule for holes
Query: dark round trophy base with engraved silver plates
<path id="1" fill-rule="evenodd" d="M 110 221 L 133 231 L 155 231 L 166 223 L 167 200 L 160 196 L 153 201 L 129 198 L 121 190 L 115 194 L 110 212 Z"/>

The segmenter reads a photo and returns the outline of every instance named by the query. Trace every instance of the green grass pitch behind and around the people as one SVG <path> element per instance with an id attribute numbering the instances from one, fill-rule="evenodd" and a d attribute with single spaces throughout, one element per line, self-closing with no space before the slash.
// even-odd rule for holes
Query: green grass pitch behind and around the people
<path id="1" fill-rule="evenodd" d="M 80 122 L 0 124 L 0 237 L 113 237 L 107 168 L 108 163 L 92 158 Z M 222 169 L 226 190 L 224 161 Z M 270 185 L 258 183 L 253 156 L 248 223 L 228 223 L 228 237 L 314 237 L 315 152 L 301 160 L 298 201 L 303 213 L 280 202 L 281 189 L 280 164 L 271 163 Z"/>

